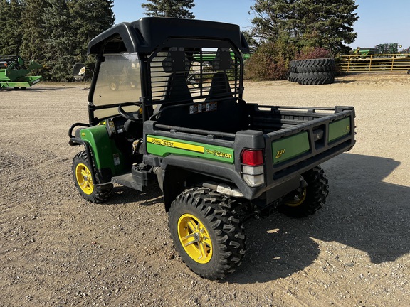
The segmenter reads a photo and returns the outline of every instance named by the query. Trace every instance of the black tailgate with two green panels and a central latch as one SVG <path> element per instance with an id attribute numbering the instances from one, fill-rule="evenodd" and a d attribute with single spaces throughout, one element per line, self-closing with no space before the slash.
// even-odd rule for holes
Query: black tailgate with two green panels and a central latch
<path id="1" fill-rule="evenodd" d="M 286 109 L 279 111 L 283 129 L 265 134 L 268 185 L 286 181 L 354 146 L 353 107 Z"/>

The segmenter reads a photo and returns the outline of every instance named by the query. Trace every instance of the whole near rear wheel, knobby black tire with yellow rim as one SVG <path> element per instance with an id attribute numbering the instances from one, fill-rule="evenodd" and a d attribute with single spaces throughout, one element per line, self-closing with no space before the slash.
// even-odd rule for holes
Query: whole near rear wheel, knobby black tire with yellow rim
<path id="1" fill-rule="evenodd" d="M 207 188 L 186 190 L 172 202 L 168 225 L 185 264 L 205 279 L 223 279 L 241 264 L 246 237 L 233 200 Z"/>

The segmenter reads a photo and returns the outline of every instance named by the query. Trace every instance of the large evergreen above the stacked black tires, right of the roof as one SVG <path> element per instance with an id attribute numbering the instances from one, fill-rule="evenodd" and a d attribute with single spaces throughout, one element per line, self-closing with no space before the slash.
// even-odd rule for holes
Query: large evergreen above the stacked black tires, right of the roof
<path id="1" fill-rule="evenodd" d="M 260 42 L 282 42 L 303 48 L 346 53 L 357 33 L 354 0 L 256 0 L 251 6 L 253 35 Z"/>

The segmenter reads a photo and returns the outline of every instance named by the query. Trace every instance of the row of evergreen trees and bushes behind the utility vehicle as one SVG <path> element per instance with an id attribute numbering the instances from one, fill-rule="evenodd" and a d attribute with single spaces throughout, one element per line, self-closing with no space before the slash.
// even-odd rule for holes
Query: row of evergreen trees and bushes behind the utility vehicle
<path id="1" fill-rule="evenodd" d="M 75 62 L 88 63 L 91 38 L 113 26 L 113 0 L 0 0 L 0 55 L 45 65 L 46 80 L 71 80 Z M 194 0 L 147 0 L 147 16 L 195 18 Z M 290 60 L 347 53 L 357 36 L 354 0 L 255 0 L 245 35 L 254 55 L 247 75 L 284 77 Z"/>

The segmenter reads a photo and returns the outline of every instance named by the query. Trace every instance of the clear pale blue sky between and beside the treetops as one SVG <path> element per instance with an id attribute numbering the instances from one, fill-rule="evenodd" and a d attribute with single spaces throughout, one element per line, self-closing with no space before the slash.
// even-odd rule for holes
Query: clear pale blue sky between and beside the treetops
<path id="1" fill-rule="evenodd" d="M 114 0 L 115 23 L 135 21 L 144 15 L 143 0 Z M 250 7 L 254 0 L 195 0 L 190 11 L 196 19 L 235 23 L 246 31 L 252 26 Z M 398 43 L 410 47 L 410 0 L 356 0 L 359 20 L 354 23 L 356 40 L 352 48 L 381 43 Z"/>

